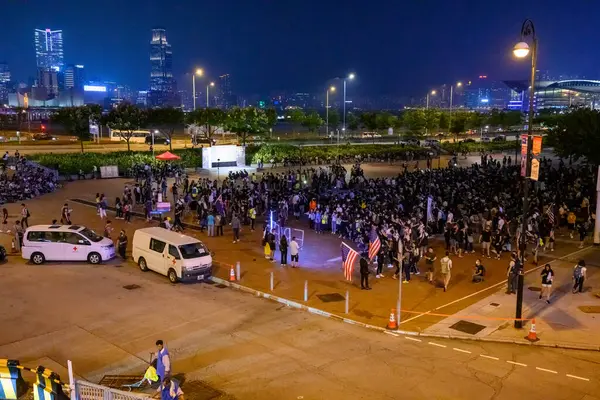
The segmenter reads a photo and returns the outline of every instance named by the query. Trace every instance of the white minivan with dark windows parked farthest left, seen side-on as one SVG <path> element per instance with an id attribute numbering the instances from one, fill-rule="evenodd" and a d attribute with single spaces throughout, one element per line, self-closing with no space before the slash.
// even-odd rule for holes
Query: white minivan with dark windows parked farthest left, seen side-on
<path id="1" fill-rule="evenodd" d="M 25 230 L 21 254 L 37 265 L 45 261 L 100 264 L 115 257 L 115 245 L 85 226 L 35 225 Z"/>

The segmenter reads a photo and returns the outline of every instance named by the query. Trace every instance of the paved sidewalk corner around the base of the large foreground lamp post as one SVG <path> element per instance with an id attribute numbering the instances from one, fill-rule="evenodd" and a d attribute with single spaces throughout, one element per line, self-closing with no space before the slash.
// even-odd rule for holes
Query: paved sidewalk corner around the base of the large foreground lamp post
<path id="1" fill-rule="evenodd" d="M 538 344 L 600 350 L 600 271 L 597 267 L 589 266 L 591 263 L 597 265 L 600 251 L 588 248 L 577 257 L 591 261 L 588 263 L 584 292 L 571 292 L 574 263 L 556 261 L 552 264 L 556 277 L 550 304 L 545 299 L 539 299 L 541 269 L 525 277 L 523 318 L 535 318 L 537 337 L 540 339 Z M 515 329 L 513 321 L 505 319 L 514 316 L 516 308 L 516 295 L 505 294 L 505 290 L 506 287 L 502 286 L 485 299 L 425 329 L 424 333 L 528 343 L 525 336 L 531 321 L 525 321 L 523 329 Z"/>

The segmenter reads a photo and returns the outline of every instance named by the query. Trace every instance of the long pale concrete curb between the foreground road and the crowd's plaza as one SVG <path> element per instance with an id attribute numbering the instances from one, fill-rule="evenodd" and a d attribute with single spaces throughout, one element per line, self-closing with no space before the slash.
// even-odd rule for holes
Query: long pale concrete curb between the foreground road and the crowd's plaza
<path id="1" fill-rule="evenodd" d="M 378 332 L 389 332 L 389 333 L 394 333 L 395 335 L 405 335 L 405 336 L 414 336 L 414 337 L 423 337 L 423 338 L 469 340 L 469 341 L 473 341 L 473 342 L 518 344 L 521 346 L 537 346 L 537 347 L 568 349 L 568 350 L 600 351 L 600 345 L 571 344 L 571 343 L 544 342 L 544 341 L 530 343 L 525 340 L 515 340 L 515 339 L 509 339 L 509 338 L 495 339 L 495 338 L 487 338 L 487 337 L 455 336 L 455 335 L 443 335 L 443 334 L 423 333 L 423 332 L 413 332 L 413 331 L 403 331 L 403 330 L 390 331 L 390 330 L 387 330 L 387 329 L 379 327 L 379 326 L 366 324 L 364 322 L 355 321 L 353 319 L 349 319 L 349 318 L 342 317 L 342 316 L 339 316 L 336 314 L 332 314 L 330 312 L 323 311 L 318 308 L 309 307 L 309 306 L 299 303 L 297 301 L 288 300 L 283 297 L 275 296 L 270 293 L 261 292 L 260 290 L 252 289 L 250 287 L 240 285 L 239 283 L 229 282 L 225 279 L 221 279 L 216 276 L 211 277 L 211 280 L 216 284 L 225 285 L 225 286 L 240 290 L 242 292 L 253 294 L 257 297 L 263 297 L 265 299 L 273 300 L 278 303 L 285 304 L 286 306 L 291 307 L 291 308 L 308 311 L 311 314 L 320 315 L 322 317 L 331 318 L 336 321 L 360 326 L 360 327 L 371 329 L 371 330 L 378 331 Z"/>

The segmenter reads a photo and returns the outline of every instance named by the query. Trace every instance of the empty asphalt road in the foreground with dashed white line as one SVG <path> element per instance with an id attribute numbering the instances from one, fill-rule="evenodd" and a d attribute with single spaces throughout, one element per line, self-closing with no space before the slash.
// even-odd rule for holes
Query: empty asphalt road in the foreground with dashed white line
<path id="1" fill-rule="evenodd" d="M 414 341 L 132 264 L 0 266 L 0 358 L 97 382 L 140 373 L 157 339 L 197 399 L 597 399 L 600 353 Z M 127 290 L 125 285 L 136 284 Z M 59 366 L 60 365 L 60 366 Z M 204 394 L 195 392 L 202 382 Z M 189 388 L 189 389 L 186 389 Z"/>

